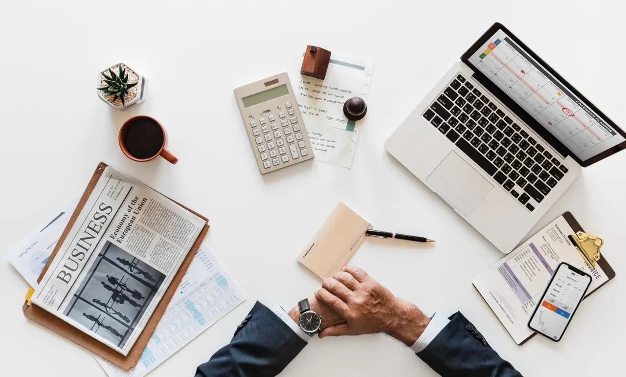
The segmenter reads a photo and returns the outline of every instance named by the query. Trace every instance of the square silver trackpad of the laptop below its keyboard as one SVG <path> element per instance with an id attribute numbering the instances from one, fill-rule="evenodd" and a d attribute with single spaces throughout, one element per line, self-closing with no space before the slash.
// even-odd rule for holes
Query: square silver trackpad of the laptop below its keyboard
<path id="1" fill-rule="evenodd" d="M 493 189 L 488 180 L 454 151 L 439 163 L 427 181 L 466 216 Z"/>

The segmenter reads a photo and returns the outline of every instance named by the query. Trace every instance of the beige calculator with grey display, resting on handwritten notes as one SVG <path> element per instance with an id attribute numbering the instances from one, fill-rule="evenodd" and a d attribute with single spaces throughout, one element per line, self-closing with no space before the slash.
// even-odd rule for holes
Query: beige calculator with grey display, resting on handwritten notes
<path id="1" fill-rule="evenodd" d="M 314 157 L 287 73 L 235 89 L 261 174 Z"/>

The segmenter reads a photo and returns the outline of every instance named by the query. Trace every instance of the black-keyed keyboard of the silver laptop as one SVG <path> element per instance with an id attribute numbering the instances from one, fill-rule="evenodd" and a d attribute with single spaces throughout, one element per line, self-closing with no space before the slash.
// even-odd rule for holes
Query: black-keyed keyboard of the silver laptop
<path id="1" fill-rule="evenodd" d="M 422 116 L 531 212 L 568 172 L 460 73 Z"/>

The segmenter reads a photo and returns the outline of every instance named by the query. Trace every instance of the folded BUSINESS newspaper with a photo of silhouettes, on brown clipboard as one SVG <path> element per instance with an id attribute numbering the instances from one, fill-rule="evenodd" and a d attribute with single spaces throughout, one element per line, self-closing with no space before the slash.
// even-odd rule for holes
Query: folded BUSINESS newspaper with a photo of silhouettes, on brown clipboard
<path id="1" fill-rule="evenodd" d="M 31 301 L 126 356 L 205 224 L 106 167 Z"/>

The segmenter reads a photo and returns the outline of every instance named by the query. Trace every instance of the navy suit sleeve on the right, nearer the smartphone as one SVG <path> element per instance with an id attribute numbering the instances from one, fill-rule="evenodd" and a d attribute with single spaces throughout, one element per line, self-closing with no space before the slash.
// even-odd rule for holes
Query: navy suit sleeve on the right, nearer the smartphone
<path id="1" fill-rule="evenodd" d="M 418 353 L 418 357 L 443 377 L 521 377 L 508 361 L 498 356 L 460 312 Z"/>

